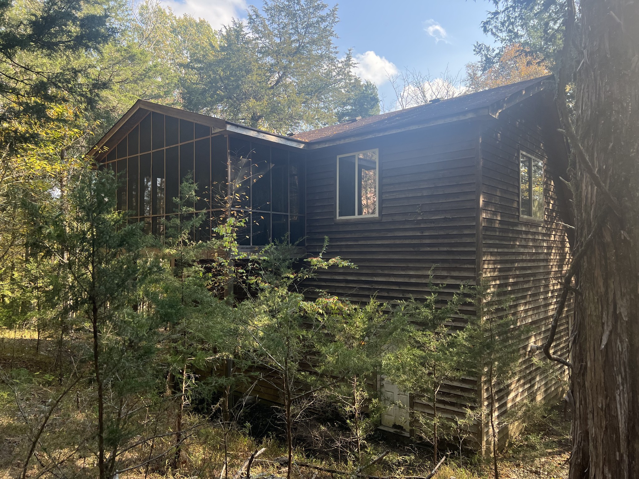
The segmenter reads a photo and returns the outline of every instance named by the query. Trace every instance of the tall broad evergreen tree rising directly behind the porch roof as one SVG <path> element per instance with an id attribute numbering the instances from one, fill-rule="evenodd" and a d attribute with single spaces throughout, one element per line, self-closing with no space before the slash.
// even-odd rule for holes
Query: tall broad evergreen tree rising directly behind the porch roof
<path id="1" fill-rule="evenodd" d="M 184 65 L 187 109 L 280 133 L 376 112 L 376 88 L 339 59 L 337 8 L 321 0 L 267 1 L 235 20 L 219 45 L 194 51 Z"/>

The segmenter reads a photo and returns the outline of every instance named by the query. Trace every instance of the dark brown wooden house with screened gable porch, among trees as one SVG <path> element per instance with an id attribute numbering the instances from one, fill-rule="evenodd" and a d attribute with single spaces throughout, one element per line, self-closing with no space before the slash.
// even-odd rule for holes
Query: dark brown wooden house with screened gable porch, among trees
<path id="1" fill-rule="evenodd" d="M 321 273 L 318 287 L 393 301 L 427 293 L 433 266 L 449 291 L 483 277 L 514 297 L 512 313 L 533 326 L 528 344 L 540 344 L 571 251 L 569 190 L 560 179 L 568 154 L 558 128 L 553 81 L 543 77 L 287 136 L 139 101 L 93 155 L 127 178 L 118 207 L 145 231 L 161 232 L 158 218 L 174 213 L 167 199 L 178 196 L 180 178 L 196 181 L 196 209 L 212 223 L 224 211 L 219 198 L 239 185 L 230 193 L 233 210 L 249 220 L 243 247 L 289 234 L 316 254 L 328 236 L 328 254 L 358 265 Z M 195 234 L 206 239 L 210 224 Z M 572 315 L 569 300 L 554 349 L 564 357 Z M 500 392 L 499 411 L 561 393 L 522 353 L 521 379 Z M 378 386 L 390 400 L 429 410 L 392 384 Z M 438 408 L 459 414 L 486 387 L 477 379 L 451 384 Z M 382 425 L 400 434 L 411 426 L 397 407 Z M 478 435 L 486 445 L 487 430 Z"/>

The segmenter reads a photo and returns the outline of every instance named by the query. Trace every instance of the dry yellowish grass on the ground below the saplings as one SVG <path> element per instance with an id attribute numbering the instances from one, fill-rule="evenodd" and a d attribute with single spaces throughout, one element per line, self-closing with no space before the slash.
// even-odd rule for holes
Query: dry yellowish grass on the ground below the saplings
<path id="1" fill-rule="evenodd" d="M 13 374 L 28 376 L 30 396 L 25 404 L 31 408 L 39 407 L 47 400 L 50 392 L 58 384 L 59 363 L 56 363 L 58 345 L 55 340 L 41 338 L 40 348 L 36 354 L 36 334 L 33 331 L 17 331 L 15 339 L 13 331 L 0 330 L 0 367 L 5 372 L 13 370 Z M 73 444 L 73 434 L 85 434 L 82 407 L 76 408 L 75 401 L 82 404 L 82 395 L 74 396 L 67 404 L 66 410 L 56 416 L 48 430 L 47 441 L 50 445 L 58 444 L 59 451 L 68 450 Z M 166 427 L 171 427 L 172 418 L 167 416 Z M 187 418 L 187 424 L 201 420 L 198 416 Z M 86 426 L 85 426 L 86 427 Z M 76 428 L 76 429 L 74 429 Z M 56 434 L 58 436 L 56 436 Z M 233 432 L 227 443 L 228 478 L 238 471 L 250 453 L 265 447 L 266 452 L 256 460 L 251 469 L 252 476 L 273 475 L 286 476 L 286 467 L 273 461 L 286 455 L 283 437 L 270 436 L 266 439 L 254 439 L 238 429 Z M 56 443 L 56 441 L 58 441 Z M 157 447 L 162 446 L 158 441 Z M 29 442 L 27 427 L 15 404 L 13 393 L 0 383 L 0 478 L 19 477 L 22 460 L 26 455 Z M 368 458 L 373 458 L 384 449 L 391 453 L 382 464 L 367 469 L 370 475 L 426 475 L 432 468 L 431 453 L 424 448 L 412 445 L 392 443 L 381 436 L 370 441 L 371 450 Z M 148 448 L 139 448 L 130 453 L 132 462 L 148 455 Z M 295 451 L 298 461 L 312 462 L 319 466 L 352 471 L 356 466 L 352 462 L 337 460 L 330 453 L 321 450 L 308 450 L 302 447 Z M 569 459 L 569 421 L 563 418 L 560 409 L 553 409 L 539 421 L 533 422 L 509 450 L 504 453 L 500 464 L 504 479 L 565 479 L 567 478 Z M 447 462 L 435 475 L 435 479 L 480 479 L 491 478 L 491 468 L 484 460 L 477 457 L 464 457 L 464 468 L 459 467 L 459 457 L 451 455 Z M 75 477 L 95 477 L 95 459 L 84 457 L 76 459 L 73 466 L 77 471 Z M 148 471 L 139 468 L 119 475 L 125 478 L 215 478 L 220 479 L 220 471 L 224 464 L 224 440 L 222 431 L 214 424 L 206 425 L 185 445 L 178 470 L 169 468 L 166 460 L 158 460 Z M 38 466 L 35 461 L 30 468 L 35 473 Z M 344 476 L 330 475 L 308 468 L 295 468 L 291 471 L 296 479 L 344 479 Z M 27 475 L 28 477 L 28 475 Z M 35 477 L 35 474 L 33 475 Z M 46 475 L 45 475 L 46 477 Z M 224 476 L 222 476 L 224 479 Z"/>

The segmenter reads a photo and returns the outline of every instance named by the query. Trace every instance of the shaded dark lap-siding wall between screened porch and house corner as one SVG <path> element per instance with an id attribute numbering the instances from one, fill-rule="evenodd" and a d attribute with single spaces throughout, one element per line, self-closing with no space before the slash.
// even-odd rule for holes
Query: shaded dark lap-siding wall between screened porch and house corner
<path id="1" fill-rule="evenodd" d="M 307 160 L 307 250 L 357 270 L 319 273 L 312 286 L 352 300 L 423 297 L 435 280 L 458 289 L 475 278 L 476 135 L 469 125 L 396 133 L 311 151 Z M 337 155 L 378 148 L 380 218 L 335 220 Z"/>

